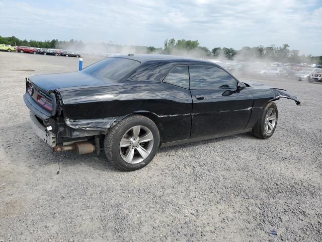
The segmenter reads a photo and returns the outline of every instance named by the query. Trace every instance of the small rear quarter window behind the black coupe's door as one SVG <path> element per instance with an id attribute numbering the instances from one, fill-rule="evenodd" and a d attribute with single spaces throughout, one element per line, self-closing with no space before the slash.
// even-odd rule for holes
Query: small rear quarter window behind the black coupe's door
<path id="1" fill-rule="evenodd" d="M 187 66 L 177 66 L 168 74 L 164 82 L 189 89 L 189 72 Z"/>

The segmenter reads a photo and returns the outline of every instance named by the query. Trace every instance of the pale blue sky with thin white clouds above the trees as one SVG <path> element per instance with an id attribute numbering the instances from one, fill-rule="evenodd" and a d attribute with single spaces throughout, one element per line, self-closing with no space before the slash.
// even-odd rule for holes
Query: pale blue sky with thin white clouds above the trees
<path id="1" fill-rule="evenodd" d="M 322 0 L 0 0 L 0 35 L 163 47 L 282 46 L 322 55 Z"/>

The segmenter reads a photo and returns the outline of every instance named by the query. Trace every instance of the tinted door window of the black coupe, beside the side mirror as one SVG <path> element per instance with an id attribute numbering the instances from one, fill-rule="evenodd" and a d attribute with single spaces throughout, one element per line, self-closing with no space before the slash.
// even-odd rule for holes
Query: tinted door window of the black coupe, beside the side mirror
<path id="1" fill-rule="evenodd" d="M 224 70 L 211 66 L 189 66 L 190 89 L 236 88 L 237 81 Z"/>

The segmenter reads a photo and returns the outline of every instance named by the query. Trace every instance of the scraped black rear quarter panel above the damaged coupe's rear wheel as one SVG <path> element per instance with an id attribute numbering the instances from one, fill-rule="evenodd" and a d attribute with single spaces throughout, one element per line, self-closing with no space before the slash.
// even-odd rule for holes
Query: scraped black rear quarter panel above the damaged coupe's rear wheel
<path id="1" fill-rule="evenodd" d="M 158 128 L 164 142 L 190 137 L 192 98 L 188 89 L 156 82 L 131 82 L 58 91 L 65 122 L 71 128 L 107 130 L 120 117 L 149 112 L 160 119 L 162 126 Z"/>

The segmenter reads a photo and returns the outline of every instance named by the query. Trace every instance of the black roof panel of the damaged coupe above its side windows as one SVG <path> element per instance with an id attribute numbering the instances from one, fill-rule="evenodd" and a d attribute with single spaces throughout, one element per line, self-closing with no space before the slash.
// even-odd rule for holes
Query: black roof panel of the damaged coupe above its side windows
<path id="1" fill-rule="evenodd" d="M 121 55 L 114 55 L 111 57 L 133 59 L 134 61 L 138 61 L 141 63 L 159 59 L 159 60 L 169 60 L 169 61 L 197 61 L 197 62 L 203 62 L 206 64 L 211 64 L 213 66 L 217 66 L 215 63 L 206 61 L 204 59 L 170 55 L 170 54 L 121 54 Z"/>

